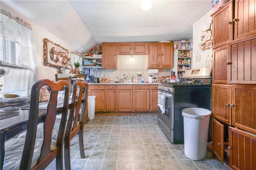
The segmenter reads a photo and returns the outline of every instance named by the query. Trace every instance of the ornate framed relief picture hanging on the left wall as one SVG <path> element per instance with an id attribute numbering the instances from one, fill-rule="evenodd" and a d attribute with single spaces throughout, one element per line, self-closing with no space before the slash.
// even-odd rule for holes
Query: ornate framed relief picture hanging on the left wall
<path id="1" fill-rule="evenodd" d="M 51 42 L 47 38 L 44 38 L 43 43 L 44 66 L 62 68 L 63 65 L 66 65 L 69 58 L 67 49 Z"/>

